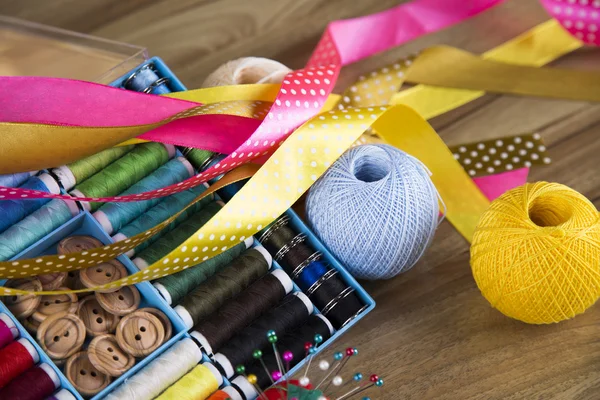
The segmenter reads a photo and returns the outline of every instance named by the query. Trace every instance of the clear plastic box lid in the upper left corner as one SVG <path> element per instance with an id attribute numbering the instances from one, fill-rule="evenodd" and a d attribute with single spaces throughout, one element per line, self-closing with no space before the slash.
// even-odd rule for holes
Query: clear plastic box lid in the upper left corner
<path id="1" fill-rule="evenodd" d="M 143 47 L 0 16 L 0 75 L 110 83 L 146 59 Z"/>

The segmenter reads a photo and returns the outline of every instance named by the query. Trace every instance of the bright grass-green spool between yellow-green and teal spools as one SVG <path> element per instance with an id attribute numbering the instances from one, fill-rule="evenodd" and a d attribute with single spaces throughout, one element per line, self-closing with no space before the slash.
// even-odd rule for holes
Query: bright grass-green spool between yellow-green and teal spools
<path id="1" fill-rule="evenodd" d="M 109 197 L 122 193 L 134 183 L 150 175 L 175 155 L 175 147 L 162 143 L 142 143 L 71 191 L 74 197 Z M 86 210 L 96 211 L 102 203 L 81 203 Z"/>

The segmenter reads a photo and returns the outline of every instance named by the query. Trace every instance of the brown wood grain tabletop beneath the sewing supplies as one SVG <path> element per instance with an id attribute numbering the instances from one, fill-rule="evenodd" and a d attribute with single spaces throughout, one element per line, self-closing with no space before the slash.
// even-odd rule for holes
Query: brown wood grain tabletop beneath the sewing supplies
<path id="1" fill-rule="evenodd" d="M 190 88 L 221 63 L 265 56 L 290 67 L 308 59 L 327 21 L 398 0 L 2 0 L 0 14 L 148 47 Z M 461 25 L 346 67 L 338 92 L 359 74 L 432 44 L 483 52 L 548 19 L 535 0 L 509 0 Z M 597 69 L 600 50 L 555 63 Z M 538 131 L 553 163 L 530 181 L 557 181 L 600 206 L 600 105 L 485 96 L 436 118 L 448 144 Z M 471 276 L 469 247 L 448 223 L 408 273 L 364 282 L 377 307 L 338 343 L 360 349 L 355 370 L 385 379 L 373 399 L 598 399 L 600 309 L 549 326 L 492 309 Z M 316 370 L 316 368 L 315 368 Z"/>

